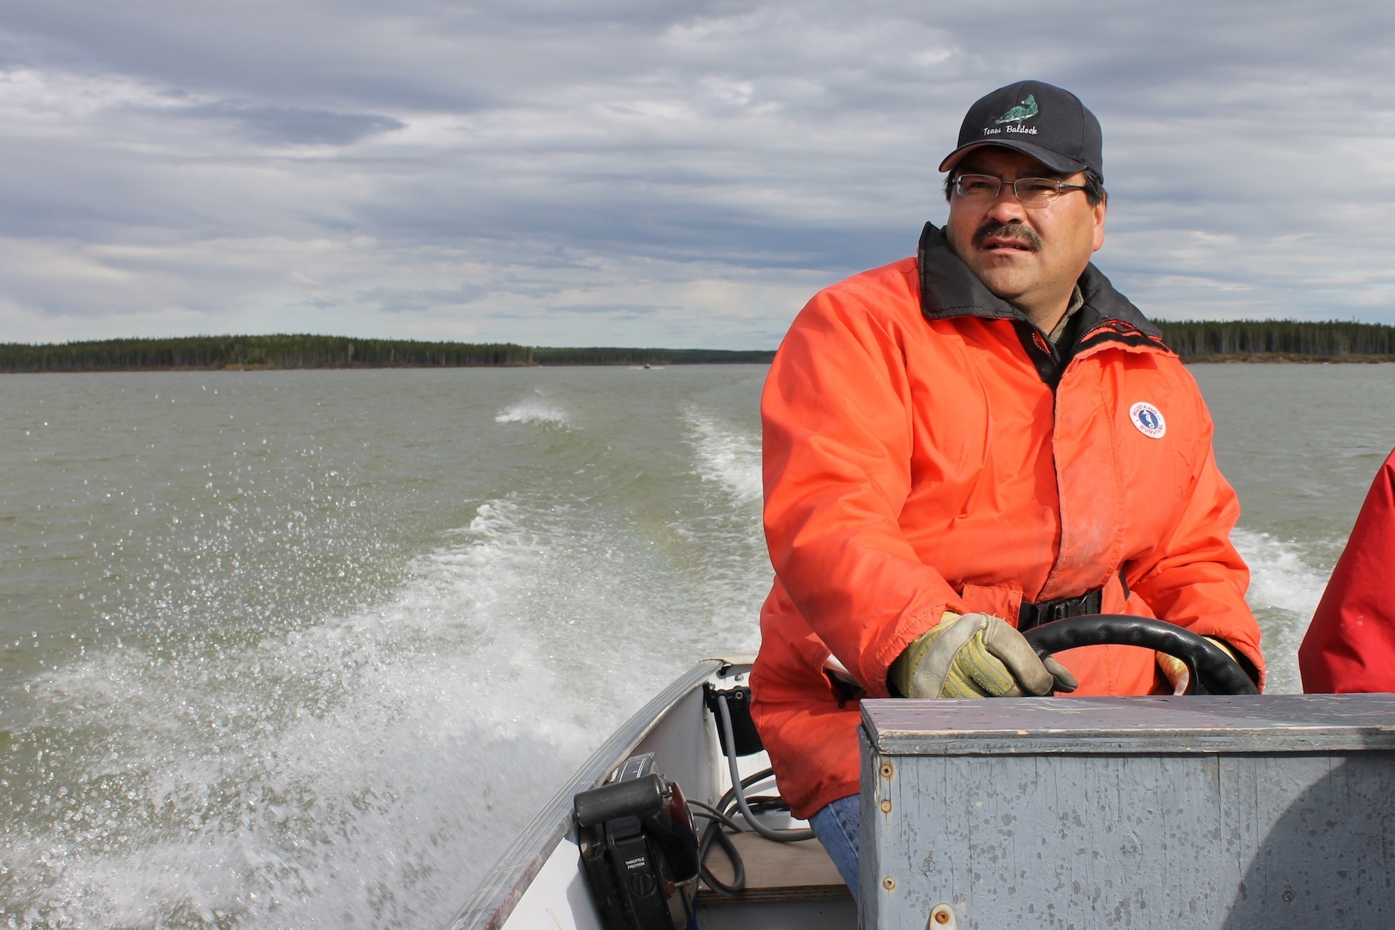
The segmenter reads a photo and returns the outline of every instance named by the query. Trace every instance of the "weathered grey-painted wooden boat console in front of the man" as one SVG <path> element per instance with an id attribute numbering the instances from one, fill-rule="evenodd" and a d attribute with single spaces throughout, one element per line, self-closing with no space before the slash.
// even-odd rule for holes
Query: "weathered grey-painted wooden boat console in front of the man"
<path id="1" fill-rule="evenodd" d="M 1395 926 L 1395 695 L 862 702 L 862 926 Z"/>

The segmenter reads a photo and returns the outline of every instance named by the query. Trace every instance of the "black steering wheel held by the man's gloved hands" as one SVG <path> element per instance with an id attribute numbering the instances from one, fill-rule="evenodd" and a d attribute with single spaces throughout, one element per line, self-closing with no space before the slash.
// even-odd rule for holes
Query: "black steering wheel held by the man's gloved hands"
<path id="1" fill-rule="evenodd" d="M 1250 676 L 1214 642 L 1173 623 L 1095 613 L 1053 620 L 1023 633 L 1036 655 L 1085 645 L 1136 645 L 1182 659 L 1191 672 L 1187 694 L 1258 694 Z"/>

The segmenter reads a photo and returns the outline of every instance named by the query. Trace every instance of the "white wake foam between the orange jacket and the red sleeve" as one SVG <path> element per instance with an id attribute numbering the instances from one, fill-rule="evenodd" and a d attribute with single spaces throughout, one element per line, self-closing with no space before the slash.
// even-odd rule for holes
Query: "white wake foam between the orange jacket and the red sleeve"
<path id="1" fill-rule="evenodd" d="M 1302 693 L 1297 649 L 1322 599 L 1328 573 L 1313 568 L 1295 542 L 1242 528 L 1236 528 L 1230 539 L 1250 566 L 1247 600 L 1264 633 L 1261 648 L 1268 662 L 1268 691 Z"/>

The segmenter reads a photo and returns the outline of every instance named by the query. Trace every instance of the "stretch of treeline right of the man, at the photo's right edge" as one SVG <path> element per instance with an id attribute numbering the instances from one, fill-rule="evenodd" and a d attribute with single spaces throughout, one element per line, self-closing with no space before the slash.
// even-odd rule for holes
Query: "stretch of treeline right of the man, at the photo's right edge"
<path id="1" fill-rule="evenodd" d="M 1189 360 L 1230 357 L 1395 360 L 1395 327 L 1380 323 L 1299 323 L 1296 320 L 1154 320 L 1162 339 Z"/>

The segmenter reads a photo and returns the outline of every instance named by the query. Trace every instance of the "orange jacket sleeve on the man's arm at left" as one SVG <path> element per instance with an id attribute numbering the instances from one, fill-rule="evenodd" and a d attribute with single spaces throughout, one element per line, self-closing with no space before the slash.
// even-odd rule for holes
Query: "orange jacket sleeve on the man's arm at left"
<path id="1" fill-rule="evenodd" d="M 776 575 L 873 697 L 886 695 L 887 666 L 947 603 L 964 609 L 898 524 L 911 487 L 911 397 L 886 316 L 851 289 L 815 296 L 760 404 Z"/>

